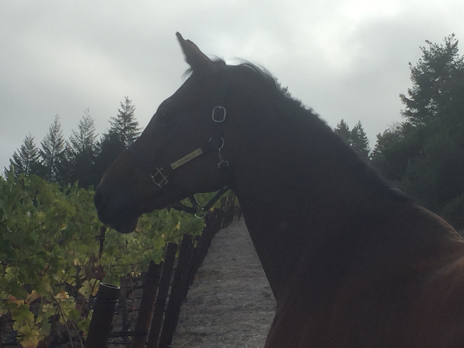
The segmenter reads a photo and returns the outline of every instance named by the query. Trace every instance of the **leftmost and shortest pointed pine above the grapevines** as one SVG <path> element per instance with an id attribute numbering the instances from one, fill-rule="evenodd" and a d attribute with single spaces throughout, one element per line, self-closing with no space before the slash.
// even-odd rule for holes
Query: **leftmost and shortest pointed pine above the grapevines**
<path id="1" fill-rule="evenodd" d="M 26 136 L 17 151 L 13 153 L 13 159 L 10 158 L 10 165 L 14 166 L 14 176 L 17 177 L 19 173 L 38 174 L 40 172 L 39 149 L 35 146 L 31 133 Z"/>

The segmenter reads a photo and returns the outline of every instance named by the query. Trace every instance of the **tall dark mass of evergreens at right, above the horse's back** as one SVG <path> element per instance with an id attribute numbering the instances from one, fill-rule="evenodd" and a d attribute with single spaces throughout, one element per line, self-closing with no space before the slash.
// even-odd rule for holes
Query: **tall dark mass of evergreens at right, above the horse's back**
<path id="1" fill-rule="evenodd" d="M 406 119 L 377 135 L 372 164 L 387 179 L 464 229 L 464 60 L 454 34 L 426 41 L 400 95 Z"/>

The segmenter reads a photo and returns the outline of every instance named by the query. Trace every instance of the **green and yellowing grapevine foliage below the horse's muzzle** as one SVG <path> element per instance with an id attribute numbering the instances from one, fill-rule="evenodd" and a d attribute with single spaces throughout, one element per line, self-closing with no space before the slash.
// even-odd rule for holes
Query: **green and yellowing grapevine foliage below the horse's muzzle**
<path id="1" fill-rule="evenodd" d="M 13 170 L 0 177 L 0 346 L 48 347 L 66 337 L 83 347 L 100 282 L 126 290 L 129 283 L 133 293 L 168 245 L 178 245 L 177 255 L 182 239 L 198 246 L 205 219 L 165 209 L 121 234 L 97 219 L 93 194 L 35 175 L 14 178 Z"/>

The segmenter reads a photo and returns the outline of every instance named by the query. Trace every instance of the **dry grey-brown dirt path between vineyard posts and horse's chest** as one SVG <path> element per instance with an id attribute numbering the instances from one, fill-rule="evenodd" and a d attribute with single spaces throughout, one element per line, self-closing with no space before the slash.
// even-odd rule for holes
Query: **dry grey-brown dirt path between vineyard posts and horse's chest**
<path id="1" fill-rule="evenodd" d="M 214 237 L 171 347 L 264 347 L 275 308 L 245 222 L 235 221 Z"/>

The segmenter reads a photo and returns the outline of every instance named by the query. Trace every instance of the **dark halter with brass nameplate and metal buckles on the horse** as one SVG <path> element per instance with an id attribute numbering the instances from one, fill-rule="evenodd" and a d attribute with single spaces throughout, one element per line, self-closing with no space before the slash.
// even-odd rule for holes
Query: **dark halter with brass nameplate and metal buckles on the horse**
<path id="1" fill-rule="evenodd" d="M 218 90 L 219 103 L 218 105 L 213 107 L 213 111 L 211 113 L 211 118 L 217 126 L 214 128 L 213 135 L 209 138 L 208 142 L 206 142 L 206 144 L 204 144 L 202 147 L 197 148 L 188 155 L 185 155 L 184 157 L 170 164 L 152 164 L 150 163 L 150 161 L 146 159 L 142 152 L 140 152 L 139 148 L 137 148 L 137 145 L 134 141 L 129 144 L 127 148 L 129 152 L 134 156 L 134 158 L 139 162 L 139 164 L 141 164 L 142 167 L 148 171 L 148 174 L 151 176 L 151 179 L 153 180 L 155 185 L 160 187 L 160 189 L 167 187 L 169 183 L 169 176 L 175 169 L 179 168 L 180 166 L 183 166 L 189 161 L 192 161 L 194 158 L 200 155 L 207 154 L 211 151 L 217 151 L 219 154 L 218 169 L 224 170 L 226 168 L 229 168 L 229 162 L 224 160 L 221 153 L 221 149 L 224 147 L 224 138 L 222 137 L 221 125 L 224 121 L 226 121 L 227 115 L 226 108 L 223 106 L 229 82 L 229 78 L 227 78 L 229 74 L 227 72 L 228 71 L 226 70 L 226 78 L 223 80 L 224 82 L 221 84 Z M 193 213 L 198 218 L 203 218 L 206 212 L 214 205 L 214 203 L 219 199 L 220 196 L 226 193 L 228 189 L 228 186 L 221 188 L 218 191 L 218 193 L 216 193 L 216 195 L 208 203 L 206 203 L 205 206 L 200 206 L 198 201 L 192 195 L 189 197 L 189 200 L 192 203 L 191 207 L 185 206 L 180 202 L 173 204 L 171 207 L 187 213 Z"/>

